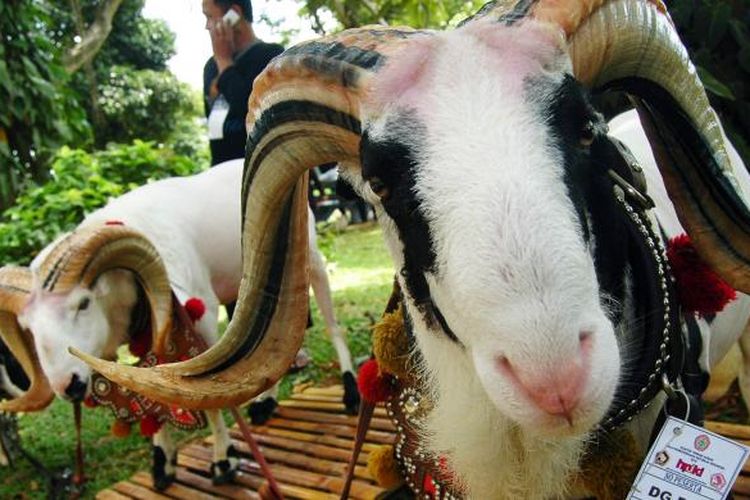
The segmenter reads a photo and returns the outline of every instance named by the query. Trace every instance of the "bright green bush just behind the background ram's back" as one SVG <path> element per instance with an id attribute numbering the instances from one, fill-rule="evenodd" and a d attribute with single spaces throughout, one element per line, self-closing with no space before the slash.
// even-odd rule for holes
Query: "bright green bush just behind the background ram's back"
<path id="1" fill-rule="evenodd" d="M 0 262 L 28 264 L 58 234 L 73 229 L 110 198 L 150 180 L 198 170 L 192 160 L 142 141 L 95 153 L 62 148 L 52 163 L 52 179 L 30 186 L 3 214 Z"/>

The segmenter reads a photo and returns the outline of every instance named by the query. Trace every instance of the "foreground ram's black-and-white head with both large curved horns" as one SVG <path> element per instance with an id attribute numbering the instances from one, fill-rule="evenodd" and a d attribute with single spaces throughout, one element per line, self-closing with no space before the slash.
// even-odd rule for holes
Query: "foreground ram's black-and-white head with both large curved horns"
<path id="1" fill-rule="evenodd" d="M 275 59 L 251 95 L 244 275 L 226 336 L 148 371 L 85 359 L 192 407 L 265 388 L 302 328 L 294 186 L 339 161 L 398 270 L 434 399 L 429 452 L 473 498 L 564 496 L 592 433 L 635 419 L 627 428 L 647 438 L 655 412 L 643 408 L 682 369 L 646 186 L 589 98 L 607 91 L 637 104 L 697 252 L 748 292 L 747 172 L 730 165 L 664 5 L 495 1 L 450 32 L 367 27 Z"/>

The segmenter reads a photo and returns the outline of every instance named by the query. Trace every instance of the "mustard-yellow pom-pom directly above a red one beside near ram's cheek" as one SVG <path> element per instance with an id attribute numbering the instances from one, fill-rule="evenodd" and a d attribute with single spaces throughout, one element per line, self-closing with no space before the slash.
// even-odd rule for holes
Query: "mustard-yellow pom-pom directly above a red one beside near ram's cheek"
<path id="1" fill-rule="evenodd" d="M 385 314 L 372 332 L 372 351 L 380 369 L 398 378 L 409 376 L 409 339 L 401 307 Z"/>

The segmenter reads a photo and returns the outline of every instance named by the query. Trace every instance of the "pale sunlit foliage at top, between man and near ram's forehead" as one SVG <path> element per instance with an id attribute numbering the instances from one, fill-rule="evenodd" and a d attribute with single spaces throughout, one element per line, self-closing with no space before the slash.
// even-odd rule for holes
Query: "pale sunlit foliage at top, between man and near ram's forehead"
<path id="1" fill-rule="evenodd" d="M 320 22 L 330 12 L 340 28 L 366 24 L 406 25 L 442 29 L 476 12 L 484 0 L 305 0 L 303 13 L 313 19 L 313 29 L 325 31 Z"/>

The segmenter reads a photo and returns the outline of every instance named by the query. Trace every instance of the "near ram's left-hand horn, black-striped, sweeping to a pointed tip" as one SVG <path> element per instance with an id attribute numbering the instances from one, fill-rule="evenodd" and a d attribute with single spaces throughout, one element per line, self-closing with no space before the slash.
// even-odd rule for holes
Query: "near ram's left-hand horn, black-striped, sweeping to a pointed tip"
<path id="1" fill-rule="evenodd" d="M 348 30 L 274 59 L 255 80 L 250 98 L 243 277 L 227 332 L 192 360 L 149 370 L 84 360 L 147 397 L 190 408 L 242 403 L 281 377 L 305 327 L 307 272 L 295 263 L 307 258 L 301 234 L 307 231 L 307 201 L 298 194 L 291 210 L 278 207 L 308 169 L 358 163 L 362 95 L 387 56 L 419 34 L 403 28 Z"/>

